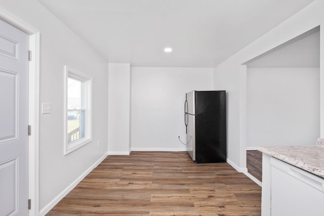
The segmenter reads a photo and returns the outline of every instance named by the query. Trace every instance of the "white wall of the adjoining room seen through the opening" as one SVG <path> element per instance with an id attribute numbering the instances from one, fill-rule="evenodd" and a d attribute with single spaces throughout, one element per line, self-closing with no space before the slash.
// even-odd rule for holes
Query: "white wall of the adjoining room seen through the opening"
<path id="1" fill-rule="evenodd" d="M 247 149 L 314 145 L 319 68 L 248 68 Z"/>

